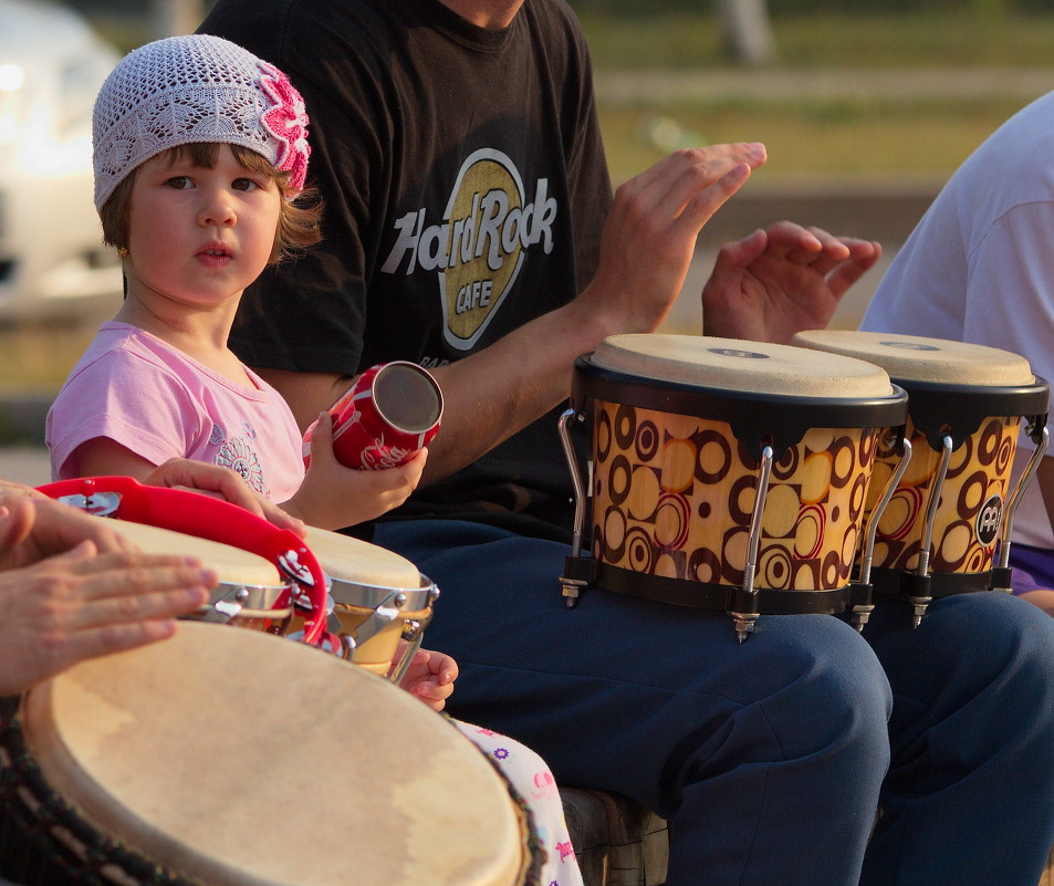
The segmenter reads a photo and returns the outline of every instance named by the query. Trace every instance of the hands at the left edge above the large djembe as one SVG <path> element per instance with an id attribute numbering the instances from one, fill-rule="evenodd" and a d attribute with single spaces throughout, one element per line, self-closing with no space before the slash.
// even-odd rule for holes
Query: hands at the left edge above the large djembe
<path id="1" fill-rule="evenodd" d="M 0 696 L 71 665 L 170 636 L 217 576 L 192 559 L 137 554 L 72 508 L 24 494 L 0 507 Z M 53 549 L 64 553 L 46 555 Z"/>

